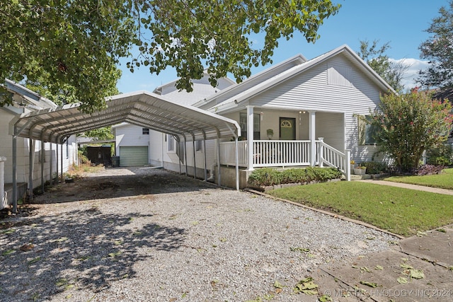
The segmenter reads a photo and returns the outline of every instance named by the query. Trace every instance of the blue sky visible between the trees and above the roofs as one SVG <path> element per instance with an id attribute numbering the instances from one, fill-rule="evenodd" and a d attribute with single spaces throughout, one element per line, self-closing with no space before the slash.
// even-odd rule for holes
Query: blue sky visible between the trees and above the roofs
<path id="1" fill-rule="evenodd" d="M 411 65 L 403 81 L 406 88 L 415 86 L 413 77 L 418 70 L 424 69 L 427 62 L 420 60 L 418 47 L 428 39 L 425 30 L 430 26 L 432 18 L 439 16 L 439 8 L 447 6 L 449 0 L 333 0 L 341 4 L 340 11 L 328 18 L 321 25 L 320 39 L 314 44 L 306 42 L 302 34 L 295 34 L 292 40 L 282 40 L 275 50 L 273 62 L 278 63 L 296 54 L 303 54 L 311 59 L 347 44 L 356 52 L 360 40 L 379 40 L 379 45 L 390 42 L 391 49 L 386 54 L 394 60 L 404 59 Z M 256 41 L 259 43 L 262 41 Z M 127 62 L 125 60 L 124 62 Z M 270 65 L 268 65 L 270 66 Z M 252 69 L 252 74 L 268 66 Z M 173 81 L 176 71 L 166 69 L 159 76 L 150 74 L 146 67 L 136 70 L 133 74 L 120 66 L 122 77 L 118 89 L 122 93 L 131 91 L 153 91 L 157 86 Z"/>

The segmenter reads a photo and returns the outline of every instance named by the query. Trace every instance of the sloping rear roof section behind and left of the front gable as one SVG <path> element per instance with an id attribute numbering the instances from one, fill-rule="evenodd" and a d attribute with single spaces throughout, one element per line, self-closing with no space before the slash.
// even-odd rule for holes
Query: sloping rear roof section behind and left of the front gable
<path id="1" fill-rule="evenodd" d="M 242 93 L 243 91 L 247 91 L 248 89 L 256 86 L 268 79 L 280 74 L 288 69 L 293 68 L 294 66 L 298 66 L 306 62 L 306 58 L 302 54 L 297 54 L 294 57 L 290 57 L 279 64 L 274 66 L 270 66 L 270 68 L 260 71 L 258 74 L 251 76 L 250 78 L 246 79 L 241 83 L 236 83 L 224 90 L 211 95 L 209 98 L 205 100 L 200 100 L 200 102 L 193 104 L 197 108 L 208 109 L 211 108 L 213 105 L 219 104 L 228 100 L 229 98 L 237 95 L 238 93 Z"/>

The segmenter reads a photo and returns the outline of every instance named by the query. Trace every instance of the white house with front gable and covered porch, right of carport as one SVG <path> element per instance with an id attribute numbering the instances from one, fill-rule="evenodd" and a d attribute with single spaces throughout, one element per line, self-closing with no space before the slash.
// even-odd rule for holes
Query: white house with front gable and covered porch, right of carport
<path id="1" fill-rule="evenodd" d="M 207 81 L 199 84 L 195 88 L 209 92 Z M 209 96 L 180 93 L 174 82 L 155 92 L 240 124 L 237 159 L 243 187 L 248 173 L 260 167 L 328 165 L 339 168 L 348 178 L 350 160 L 372 160 L 376 151 L 370 129 L 358 117 L 369 115 L 380 102 L 379 95 L 388 91 L 394 92 L 350 47 L 343 45 L 310 60 L 297 55 L 239 84 L 219 87 Z M 183 148 L 176 146 L 171 135 L 144 134 L 146 129 L 132 127 L 114 127 L 117 151 L 122 144 L 146 146 L 149 141 L 150 165 L 178 171 L 180 163 L 185 163 L 187 170 L 181 172 L 194 175 L 195 166 L 196 176 L 202 178 L 205 166 L 210 174 L 215 173 L 217 153 L 222 169 L 227 171 L 226 167 L 236 163 L 234 137 L 222 139 L 219 144 L 187 142 Z M 149 136 L 148 140 L 144 135 Z M 222 178 L 222 185 L 234 187 L 233 183 L 229 177 Z"/>

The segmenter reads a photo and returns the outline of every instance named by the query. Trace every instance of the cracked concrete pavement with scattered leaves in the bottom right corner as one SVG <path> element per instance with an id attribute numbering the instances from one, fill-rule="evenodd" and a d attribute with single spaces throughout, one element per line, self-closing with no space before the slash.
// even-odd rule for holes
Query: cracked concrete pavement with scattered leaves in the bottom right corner
<path id="1" fill-rule="evenodd" d="M 419 236 L 320 267 L 313 276 L 319 293 L 333 301 L 453 301 L 453 225 Z"/>

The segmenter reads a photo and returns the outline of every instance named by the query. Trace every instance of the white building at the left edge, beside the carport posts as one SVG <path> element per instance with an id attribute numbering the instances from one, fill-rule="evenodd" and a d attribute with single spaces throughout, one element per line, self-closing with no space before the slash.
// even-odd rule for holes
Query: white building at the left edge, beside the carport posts
<path id="1" fill-rule="evenodd" d="M 57 108 L 57 105 L 13 81 L 6 80 L 4 88 L 8 95 L 0 95 L 0 98 L 12 97 L 13 104 L 0 107 L 0 156 L 4 160 L 2 163 L 4 174 L 3 178 L 0 177 L 0 182 L 2 182 L 0 183 L 0 196 L 3 201 L 0 203 L 0 209 L 7 203 L 13 203 L 11 194 L 13 173 L 16 173 L 19 188 L 16 199 L 21 199 L 30 188 L 42 185 L 51 179 L 51 175 L 55 176 L 57 168 L 58 173 L 62 173 L 77 160 L 75 136 L 69 137 L 62 145 L 16 137 L 16 147 L 14 148 L 13 135 L 8 131 L 11 121 L 23 113 Z M 16 149 L 16 167 L 13 166 L 14 149 Z M 57 152 L 59 152 L 58 159 Z"/>

